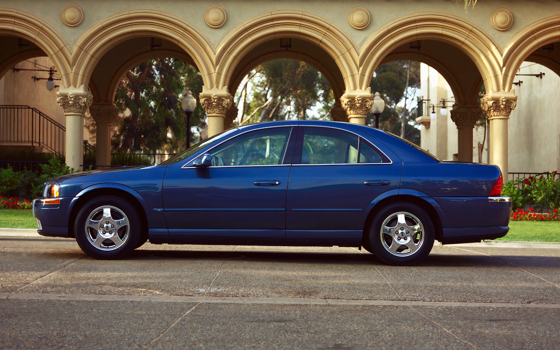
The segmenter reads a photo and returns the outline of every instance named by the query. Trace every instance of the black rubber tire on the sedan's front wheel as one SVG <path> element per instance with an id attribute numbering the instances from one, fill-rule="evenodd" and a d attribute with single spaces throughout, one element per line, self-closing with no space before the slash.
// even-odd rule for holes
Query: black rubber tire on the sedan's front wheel
<path id="1" fill-rule="evenodd" d="M 111 240 L 106 239 L 102 241 L 101 248 L 97 248 L 96 246 L 94 246 L 94 243 L 90 241 L 94 240 L 94 237 L 96 237 L 92 237 L 93 235 L 99 234 L 97 234 L 96 230 L 93 228 L 88 228 L 88 231 L 86 231 L 86 222 L 89 220 L 90 214 L 101 207 L 115 208 L 116 210 L 111 208 L 109 209 L 111 216 L 115 217 L 114 220 L 122 220 L 122 214 L 120 212 L 125 215 L 125 222 L 127 222 L 127 225 L 124 225 L 122 228 L 120 228 L 118 230 L 119 232 L 115 231 L 115 233 L 119 235 L 119 239 L 123 237 L 122 242 L 119 243 L 120 246 L 116 246 L 116 244 L 113 244 L 114 247 L 111 248 Z M 101 215 L 103 214 L 102 209 L 100 213 Z M 96 218 L 99 218 L 100 214 L 97 215 L 98 216 Z M 103 220 L 105 220 L 105 218 L 103 218 Z M 110 223 L 113 223 L 112 217 Z M 128 235 L 123 233 L 127 232 L 127 230 Z M 138 212 L 136 211 L 134 206 L 130 202 L 128 202 L 128 200 L 114 195 L 103 195 L 99 198 L 88 200 L 88 202 L 86 202 L 86 204 L 82 206 L 76 216 L 76 220 L 74 221 L 74 235 L 76 236 L 76 241 L 78 242 L 78 245 L 83 250 L 83 252 L 94 259 L 121 259 L 124 258 L 124 256 L 130 254 L 138 246 L 141 246 L 143 244 L 142 222 L 140 220 Z M 105 248 L 106 246 L 107 248 Z"/>

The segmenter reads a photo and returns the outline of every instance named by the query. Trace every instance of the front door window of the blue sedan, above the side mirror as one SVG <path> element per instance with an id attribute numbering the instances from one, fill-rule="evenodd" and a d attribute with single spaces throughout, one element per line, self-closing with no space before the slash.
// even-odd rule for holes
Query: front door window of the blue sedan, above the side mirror
<path id="1" fill-rule="evenodd" d="M 212 166 L 281 165 L 291 129 L 270 128 L 237 136 L 209 152 Z"/>

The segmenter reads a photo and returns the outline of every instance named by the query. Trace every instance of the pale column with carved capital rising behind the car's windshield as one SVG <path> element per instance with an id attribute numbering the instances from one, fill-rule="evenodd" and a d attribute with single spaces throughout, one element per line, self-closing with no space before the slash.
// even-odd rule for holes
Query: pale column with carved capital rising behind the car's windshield
<path id="1" fill-rule="evenodd" d="M 199 95 L 200 105 L 208 117 L 208 137 L 221 133 L 224 119 L 234 98 L 225 90 L 203 90 Z"/>

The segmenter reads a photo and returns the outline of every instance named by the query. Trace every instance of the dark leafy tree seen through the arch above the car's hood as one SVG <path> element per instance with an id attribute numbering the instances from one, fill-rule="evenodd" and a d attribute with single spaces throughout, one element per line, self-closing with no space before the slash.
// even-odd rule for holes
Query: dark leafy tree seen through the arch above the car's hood
<path id="1" fill-rule="evenodd" d="M 198 97 L 202 92 L 202 77 L 181 60 L 155 58 L 130 69 L 115 94 L 115 105 L 127 116 L 113 139 L 114 148 L 120 153 L 184 148 L 185 116 L 180 97 L 185 88 Z M 200 128 L 204 115 L 198 105 L 191 116 L 191 125 Z"/>

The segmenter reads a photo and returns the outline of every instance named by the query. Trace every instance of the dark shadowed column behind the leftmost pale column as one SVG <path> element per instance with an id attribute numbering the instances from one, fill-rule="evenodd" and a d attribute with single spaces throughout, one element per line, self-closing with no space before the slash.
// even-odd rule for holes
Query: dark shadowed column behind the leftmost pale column
<path id="1" fill-rule="evenodd" d="M 95 120 L 95 164 L 111 165 L 111 125 L 119 109 L 114 105 L 91 105 L 90 114 Z"/>

